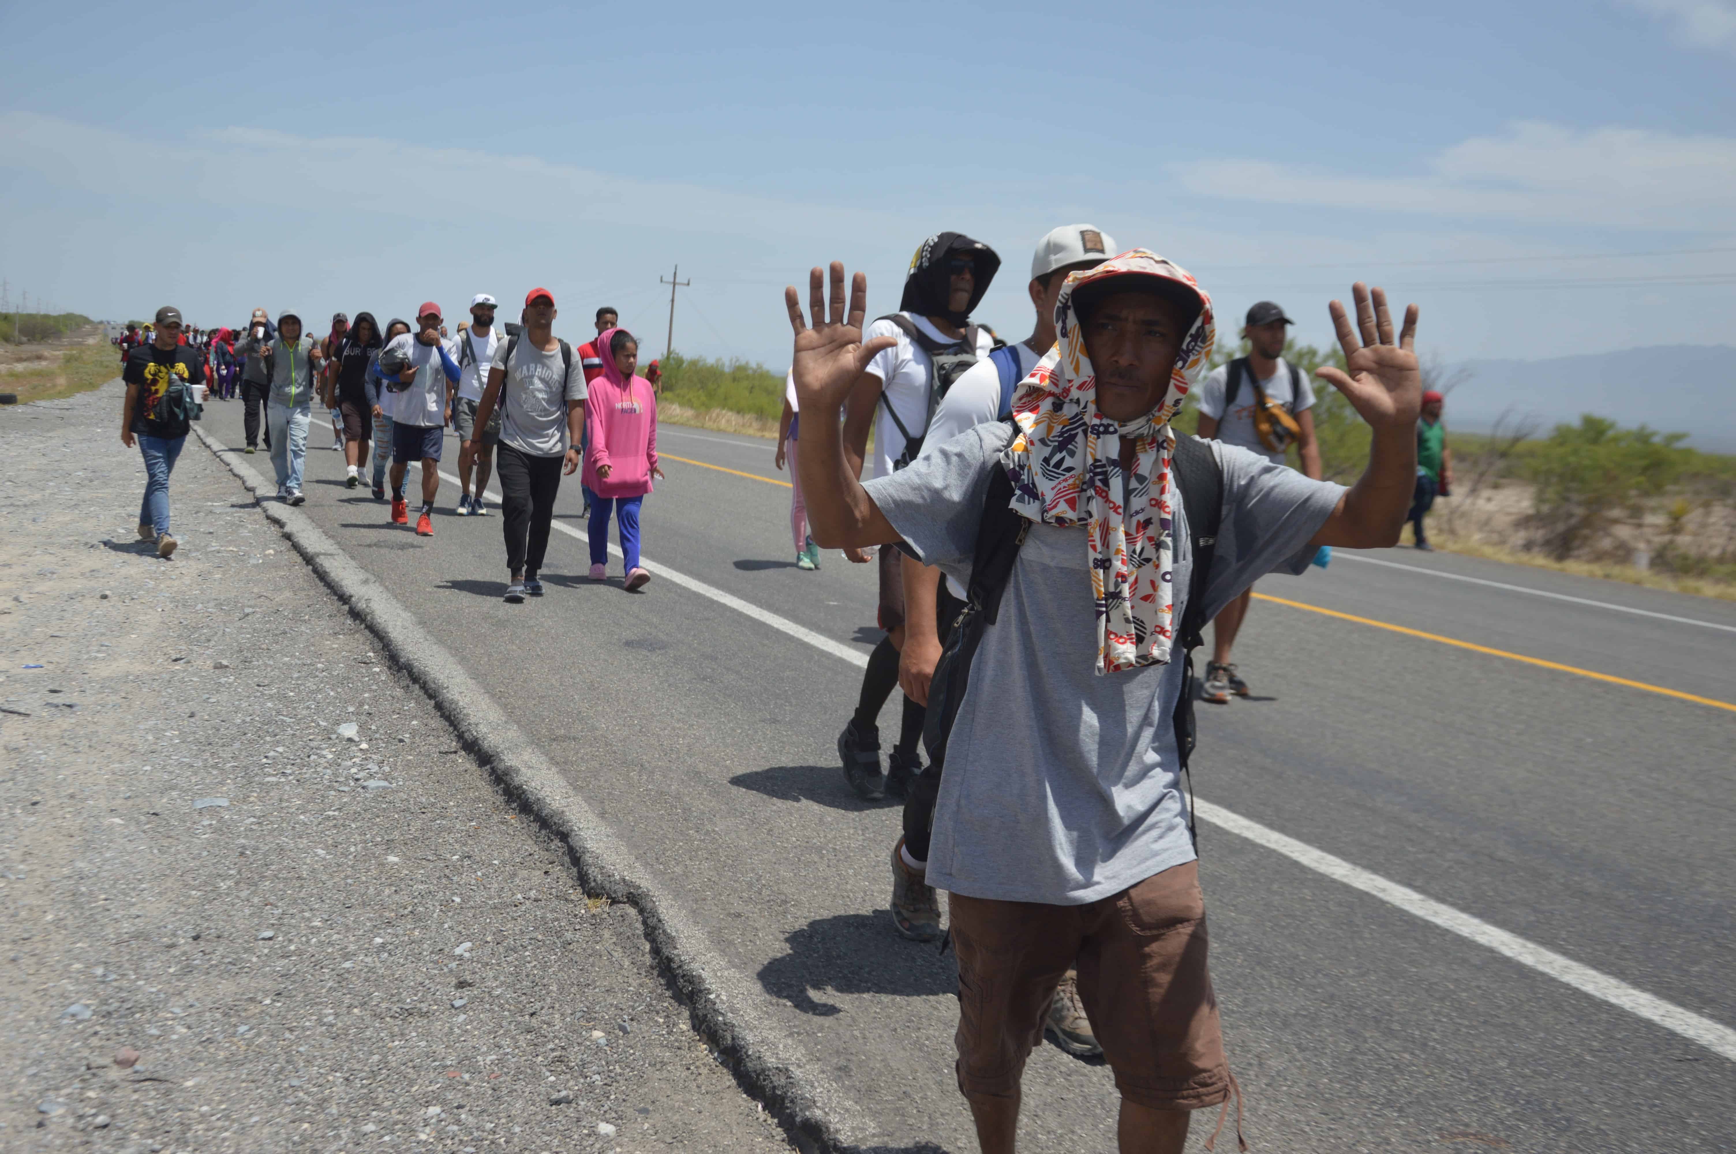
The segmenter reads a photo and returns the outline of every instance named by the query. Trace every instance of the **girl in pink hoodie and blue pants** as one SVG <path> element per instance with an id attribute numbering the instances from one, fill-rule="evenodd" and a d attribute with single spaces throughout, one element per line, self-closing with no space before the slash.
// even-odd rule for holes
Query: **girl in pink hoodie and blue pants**
<path id="1" fill-rule="evenodd" d="M 634 377 L 639 368 L 639 342 L 625 328 L 611 328 L 597 337 L 602 371 L 587 385 L 585 495 L 590 498 L 590 580 L 608 576 L 609 512 L 621 528 L 621 554 L 627 555 L 627 588 L 642 588 L 651 574 L 639 567 L 639 505 L 651 491 L 651 479 L 661 479 L 656 467 L 656 394 L 651 382 Z"/>

